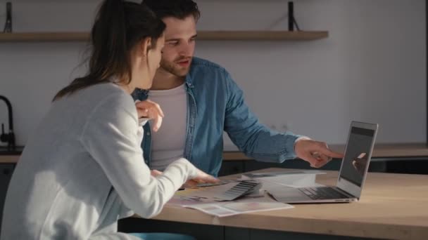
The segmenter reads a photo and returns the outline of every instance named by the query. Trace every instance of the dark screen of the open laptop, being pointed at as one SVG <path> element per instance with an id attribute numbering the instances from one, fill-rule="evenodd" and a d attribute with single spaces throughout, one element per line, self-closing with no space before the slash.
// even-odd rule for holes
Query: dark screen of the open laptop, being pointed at
<path id="1" fill-rule="evenodd" d="M 374 130 L 355 126 L 351 128 L 340 178 L 361 187 L 373 140 Z"/>

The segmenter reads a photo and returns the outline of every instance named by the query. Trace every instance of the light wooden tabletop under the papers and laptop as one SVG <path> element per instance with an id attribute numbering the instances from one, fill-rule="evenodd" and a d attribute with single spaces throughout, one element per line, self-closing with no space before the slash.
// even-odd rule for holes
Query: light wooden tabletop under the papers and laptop
<path id="1" fill-rule="evenodd" d="M 317 182 L 333 185 L 336 178 L 336 171 L 328 171 L 318 175 Z M 428 175 L 369 173 L 361 200 L 351 204 L 298 204 L 292 209 L 227 218 L 165 206 L 155 219 L 378 239 L 428 239 Z"/>

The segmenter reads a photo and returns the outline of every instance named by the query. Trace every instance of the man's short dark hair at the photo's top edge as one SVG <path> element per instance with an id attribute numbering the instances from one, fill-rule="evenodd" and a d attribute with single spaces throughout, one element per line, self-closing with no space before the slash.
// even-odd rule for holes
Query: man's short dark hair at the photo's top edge
<path id="1" fill-rule="evenodd" d="M 183 20 L 193 15 L 199 20 L 198 4 L 192 0 L 144 0 L 141 4 L 148 6 L 158 18 L 174 17 Z"/>

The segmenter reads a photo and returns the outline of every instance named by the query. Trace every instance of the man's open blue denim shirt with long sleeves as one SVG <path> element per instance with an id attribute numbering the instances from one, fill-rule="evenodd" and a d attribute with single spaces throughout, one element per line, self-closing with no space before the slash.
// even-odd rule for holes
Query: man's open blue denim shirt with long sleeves
<path id="1" fill-rule="evenodd" d="M 183 156 L 197 168 L 218 175 L 223 131 L 241 152 L 257 161 L 280 163 L 296 157 L 294 142 L 299 135 L 279 133 L 260 124 L 244 102 L 243 92 L 223 67 L 195 57 L 185 81 L 188 106 Z M 148 94 L 149 91 L 136 90 L 132 95 L 136 100 L 146 100 Z M 144 125 L 144 133 L 141 147 L 144 161 L 150 166 L 150 124 Z"/>

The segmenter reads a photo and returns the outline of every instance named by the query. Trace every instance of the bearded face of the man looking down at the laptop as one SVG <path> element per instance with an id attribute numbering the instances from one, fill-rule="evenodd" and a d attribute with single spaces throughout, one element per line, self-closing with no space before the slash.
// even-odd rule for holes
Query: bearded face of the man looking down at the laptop
<path id="1" fill-rule="evenodd" d="M 195 51 L 196 21 L 193 15 L 184 20 L 163 18 L 165 22 L 165 46 L 160 69 L 175 76 L 186 76 Z"/>

